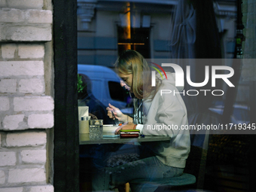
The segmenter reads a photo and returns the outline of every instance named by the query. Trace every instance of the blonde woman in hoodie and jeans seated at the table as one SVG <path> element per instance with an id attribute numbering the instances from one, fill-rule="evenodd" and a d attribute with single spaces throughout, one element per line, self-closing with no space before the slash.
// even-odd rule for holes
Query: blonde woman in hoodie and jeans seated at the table
<path id="1" fill-rule="evenodd" d="M 138 159 L 111 169 L 106 168 L 105 172 L 109 174 L 104 179 L 98 178 L 95 184 L 101 185 L 101 190 L 107 190 L 108 184 L 116 186 L 136 178 L 169 178 L 181 175 L 190 151 L 189 132 L 181 130 L 181 125 L 187 124 L 187 111 L 179 94 L 160 93 L 160 90 L 178 93 L 172 74 L 167 73 L 167 79 L 157 78 L 156 87 L 151 87 L 148 62 L 135 50 L 126 50 L 120 54 L 115 66 L 117 74 L 122 78 L 121 86 L 136 97 L 133 117 L 109 104 L 108 117 L 114 118 L 113 111 L 118 120 L 126 122 L 115 133 L 136 129 L 145 136 L 169 136 L 170 141 L 142 142 Z M 95 184 L 93 185 L 96 186 Z"/>

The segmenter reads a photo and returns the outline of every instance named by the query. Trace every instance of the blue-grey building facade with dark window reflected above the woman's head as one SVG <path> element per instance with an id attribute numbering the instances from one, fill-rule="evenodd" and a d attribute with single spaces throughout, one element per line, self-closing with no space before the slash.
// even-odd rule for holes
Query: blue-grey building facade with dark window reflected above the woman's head
<path id="1" fill-rule="evenodd" d="M 145 58 L 172 57 L 175 5 L 178 0 L 130 2 L 78 0 L 78 63 L 112 67 L 122 50 Z M 232 58 L 236 36 L 236 1 L 215 1 L 223 57 Z"/>

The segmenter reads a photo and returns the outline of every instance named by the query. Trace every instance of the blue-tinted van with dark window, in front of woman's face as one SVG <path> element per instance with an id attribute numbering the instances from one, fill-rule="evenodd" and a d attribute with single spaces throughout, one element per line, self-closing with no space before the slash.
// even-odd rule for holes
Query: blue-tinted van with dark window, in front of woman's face
<path id="1" fill-rule="evenodd" d="M 120 78 L 112 69 L 105 66 L 78 64 L 78 74 L 90 78 L 93 96 L 105 107 L 111 103 L 117 108 L 126 108 L 126 91 L 120 86 Z"/>

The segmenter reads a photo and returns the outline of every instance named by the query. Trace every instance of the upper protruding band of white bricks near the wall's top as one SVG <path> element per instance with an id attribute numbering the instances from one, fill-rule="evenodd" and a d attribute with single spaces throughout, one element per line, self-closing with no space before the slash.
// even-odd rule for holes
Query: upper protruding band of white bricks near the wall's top
<path id="1" fill-rule="evenodd" d="M 11 0 L 10 0 L 11 1 Z M 10 5 L 8 1 L 8 5 Z M 21 2 L 23 1 L 16 1 Z M 36 0 L 32 0 L 36 2 Z M 0 9 L 1 23 L 19 23 L 23 25 L 0 25 L 0 40 L 11 41 L 50 41 L 52 39 L 51 24 L 52 11 L 47 10 L 20 10 L 14 8 Z M 38 25 L 40 24 L 40 26 Z"/>

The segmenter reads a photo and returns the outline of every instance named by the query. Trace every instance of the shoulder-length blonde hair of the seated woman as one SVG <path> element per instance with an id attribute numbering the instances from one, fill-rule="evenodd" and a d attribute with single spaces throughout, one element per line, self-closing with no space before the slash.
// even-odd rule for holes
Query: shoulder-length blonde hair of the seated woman
<path id="1" fill-rule="evenodd" d="M 115 62 L 115 68 L 118 73 L 133 74 L 131 89 L 136 98 L 153 98 L 157 93 L 156 87 L 151 87 L 151 72 L 148 62 L 136 50 L 126 50 L 121 53 Z M 157 82 L 158 84 L 159 82 Z"/>

